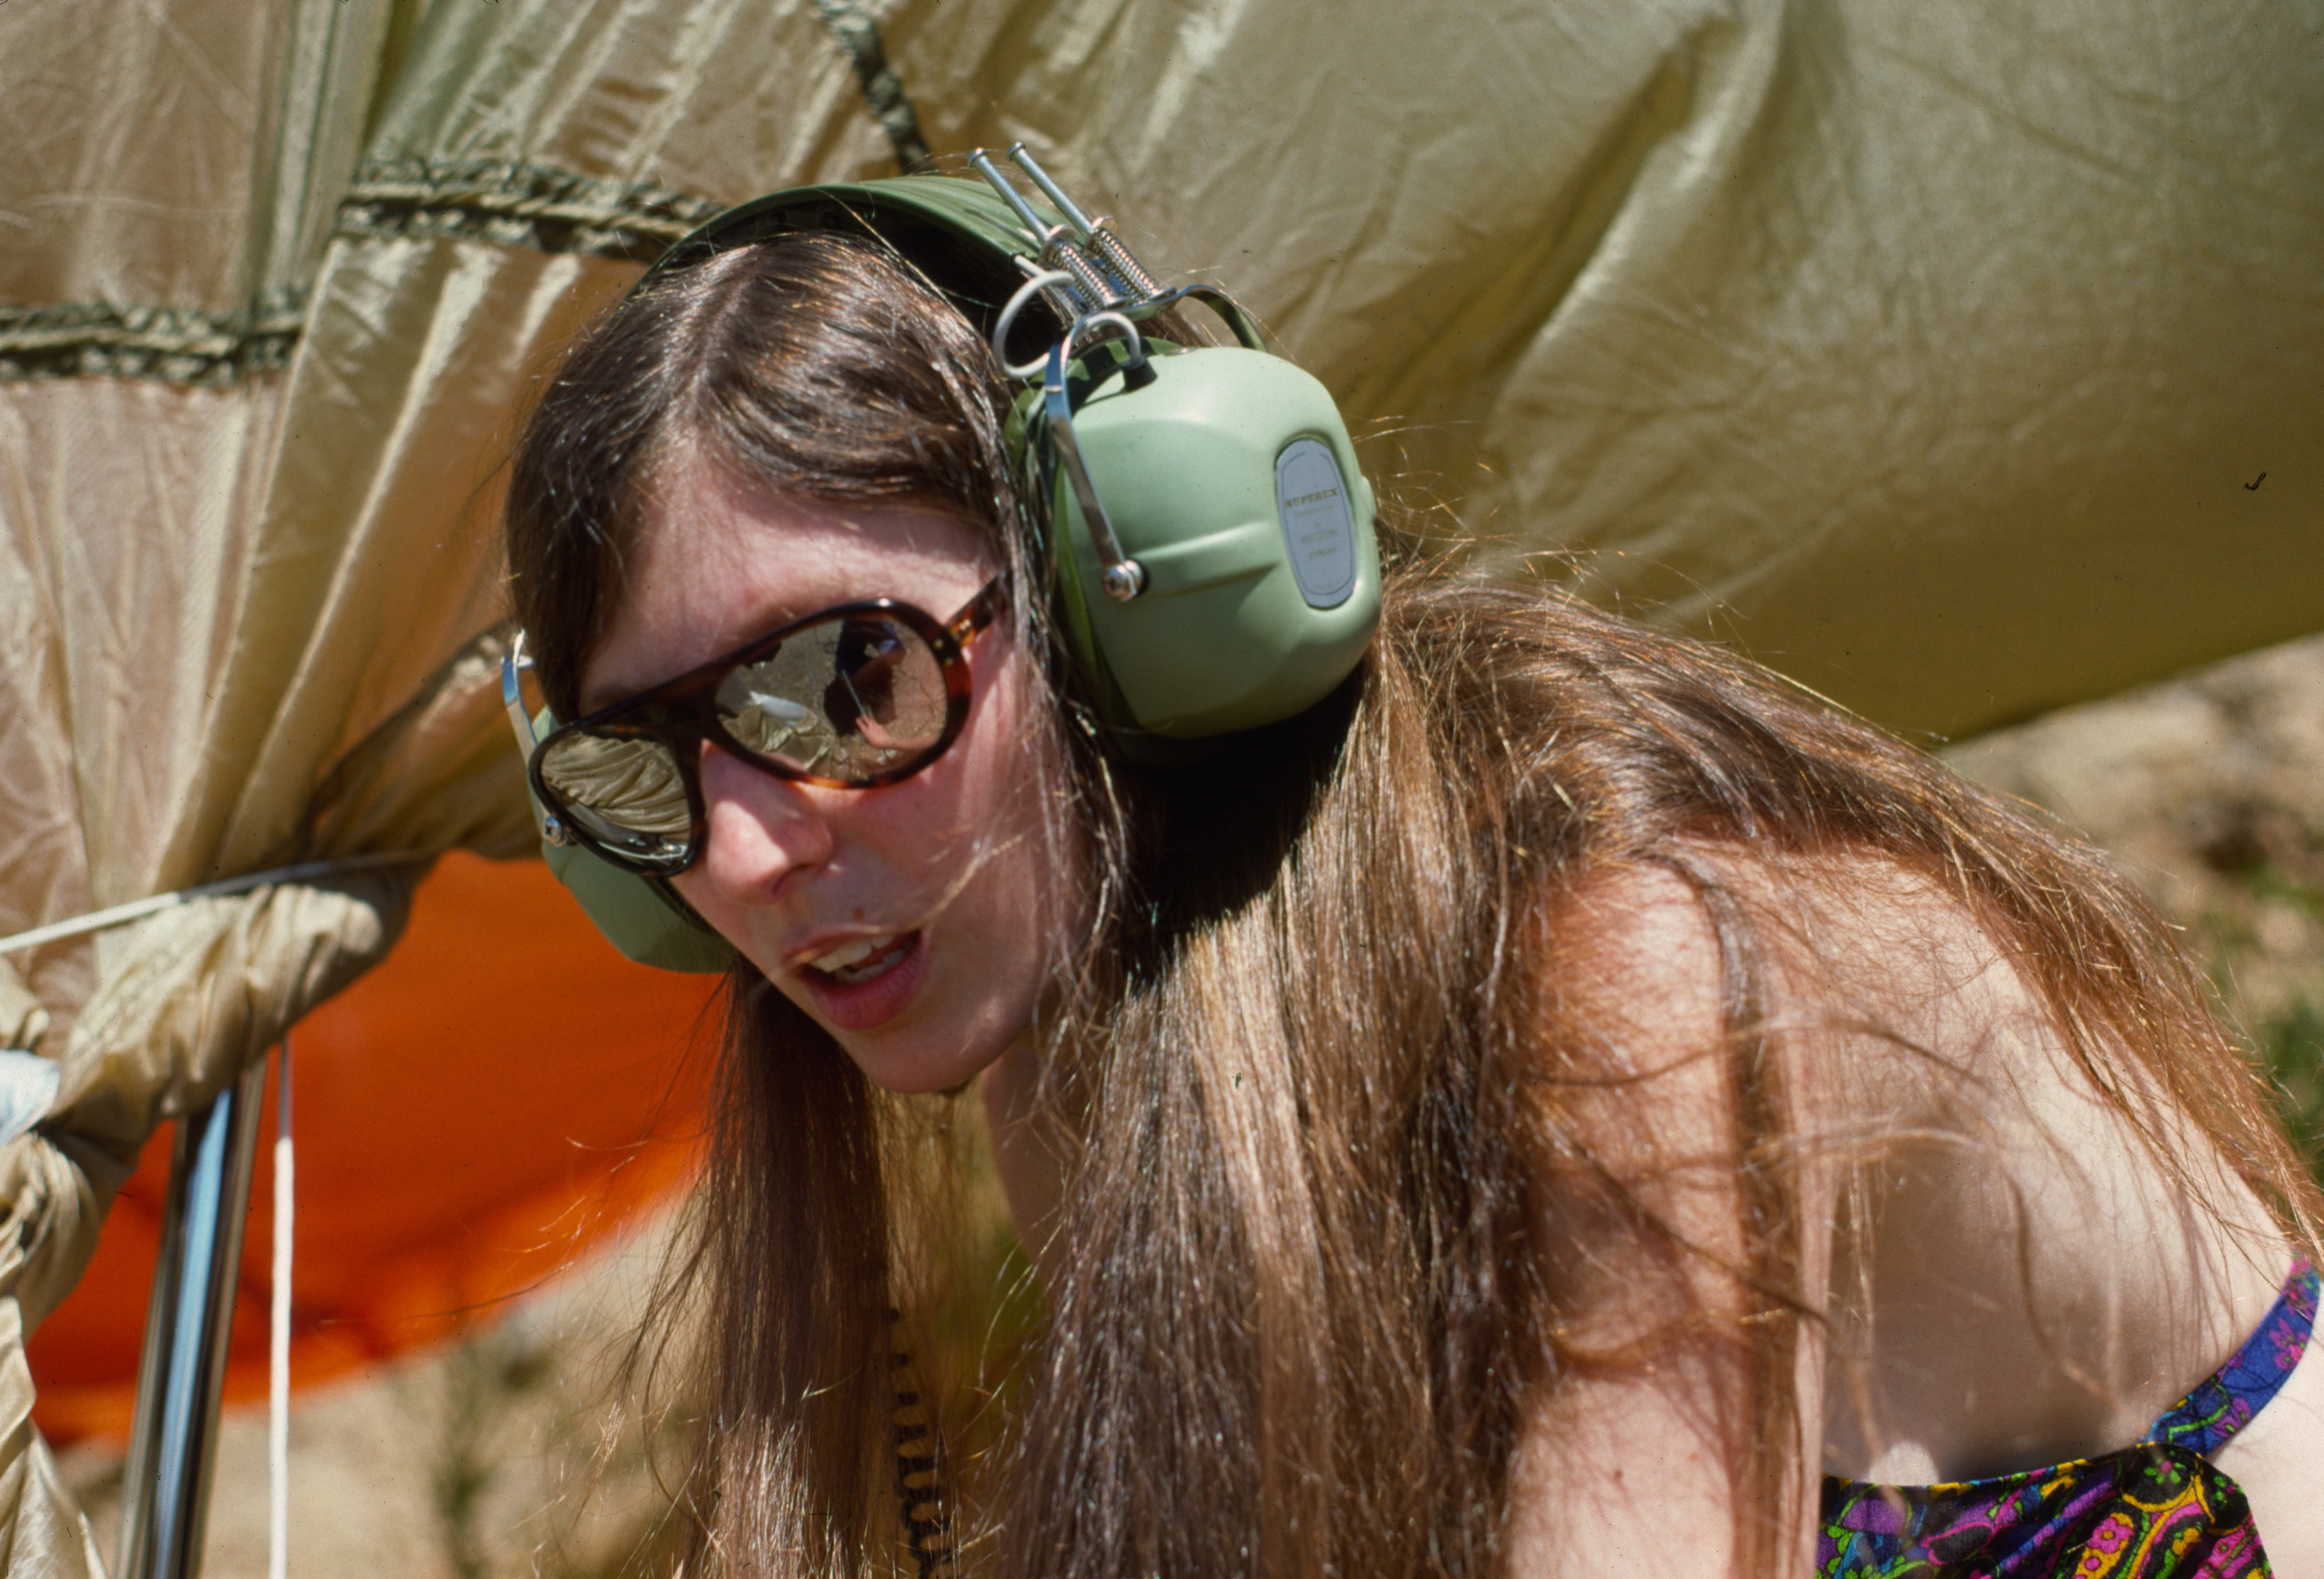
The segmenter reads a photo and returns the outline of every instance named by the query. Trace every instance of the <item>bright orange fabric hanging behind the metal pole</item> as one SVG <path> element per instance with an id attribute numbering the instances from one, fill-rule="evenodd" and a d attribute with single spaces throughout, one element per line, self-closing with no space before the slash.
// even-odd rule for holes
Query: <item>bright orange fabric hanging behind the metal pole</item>
<path id="1" fill-rule="evenodd" d="M 444 856 L 386 963 L 290 1033 L 293 1386 L 490 1321 L 676 1188 L 711 986 L 623 960 L 537 860 Z M 263 1123 L 228 1400 L 267 1388 L 272 1098 Z M 56 1442 L 128 1432 L 167 1174 L 163 1133 L 33 1335 Z"/>

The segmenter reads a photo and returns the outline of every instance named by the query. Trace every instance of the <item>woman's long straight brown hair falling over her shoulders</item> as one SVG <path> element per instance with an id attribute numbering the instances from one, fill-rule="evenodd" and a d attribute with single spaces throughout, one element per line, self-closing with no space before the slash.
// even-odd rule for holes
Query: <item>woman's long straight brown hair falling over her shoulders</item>
<path id="1" fill-rule="evenodd" d="M 1778 1509 L 1810 1472 L 1785 1444 L 1822 1291 L 1801 1284 L 1792 1107 L 1738 865 L 1859 856 L 1938 886 L 2099 1093 L 2133 1123 L 2133 1095 L 2161 1093 L 2312 1244 L 2312 1186 L 2129 886 L 1729 653 L 1394 546 L 1376 649 L 1329 702 L 1208 765 L 1113 760 L 1071 726 L 1004 409 L 976 328 L 904 267 L 844 237 L 762 242 L 583 337 L 525 430 L 507 533 L 560 709 L 681 442 L 809 498 L 941 502 L 1027 570 L 1016 619 L 1025 651 L 1050 653 L 1057 837 L 1097 893 L 1041 1023 L 1046 1100 L 1074 1137 L 1048 1326 L 967 1563 L 1501 1570 L 1525 1402 L 1571 1358 L 1534 1191 L 1548 1156 L 1592 1163 L 1562 1093 L 1606 1067 L 1543 921 L 1613 870 L 1680 874 L 1724 963 L 1750 1567 L 1773 1565 Z M 688 1263 L 709 1344 L 690 1567 L 878 1570 L 888 1309 L 927 1281 L 937 1246 L 911 1228 L 934 1207 L 895 1163 L 895 1107 L 748 970 L 723 1067 Z"/>

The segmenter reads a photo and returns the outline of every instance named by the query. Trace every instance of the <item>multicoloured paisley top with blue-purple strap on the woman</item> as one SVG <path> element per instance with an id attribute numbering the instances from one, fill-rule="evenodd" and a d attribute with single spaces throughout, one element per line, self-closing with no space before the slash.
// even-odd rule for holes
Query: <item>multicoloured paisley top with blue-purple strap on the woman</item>
<path id="1" fill-rule="evenodd" d="M 2119 1453 L 1945 1486 L 1827 1474 L 1817 1579 L 2266 1574 L 2243 1488 L 2203 1456 L 2243 1430 L 2298 1365 L 2317 1286 L 2315 1267 L 2294 1267 L 2243 1349 Z"/>

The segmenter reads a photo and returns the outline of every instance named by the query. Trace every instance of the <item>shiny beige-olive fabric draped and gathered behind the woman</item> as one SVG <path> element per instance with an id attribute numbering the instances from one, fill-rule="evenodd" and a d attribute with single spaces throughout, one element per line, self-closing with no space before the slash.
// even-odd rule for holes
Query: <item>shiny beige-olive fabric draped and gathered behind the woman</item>
<path id="1" fill-rule="evenodd" d="M 523 851 L 495 460 L 693 219 L 1025 137 L 1508 574 L 1959 735 L 2324 626 L 2319 33 L 2317 0 L 0 5 L 0 935 L 365 863 L 7 956 L 0 1044 L 63 1091 L 0 1153 L 0 1560 L 93 1565 L 19 1335 L 137 1146 L 376 960 L 437 851 Z"/>

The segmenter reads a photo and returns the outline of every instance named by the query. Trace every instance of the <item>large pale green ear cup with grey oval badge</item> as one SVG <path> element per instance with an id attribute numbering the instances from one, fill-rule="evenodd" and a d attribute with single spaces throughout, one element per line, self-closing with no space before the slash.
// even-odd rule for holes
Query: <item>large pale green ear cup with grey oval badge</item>
<path id="1" fill-rule="evenodd" d="M 1241 346 L 1081 358 L 1074 435 L 1146 588 L 1118 602 L 1074 491 L 1046 453 L 1039 391 L 1011 435 L 1039 458 L 1064 630 L 1099 714 L 1136 735 L 1260 728 L 1329 695 L 1380 621 L 1373 498 L 1325 386 Z M 1120 716 L 1106 716 L 1106 714 Z"/>

